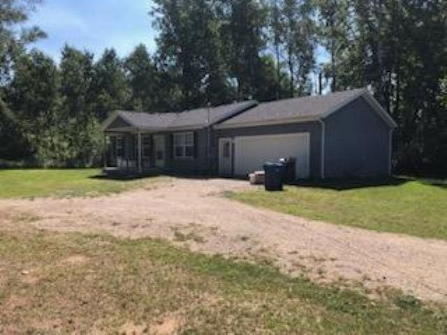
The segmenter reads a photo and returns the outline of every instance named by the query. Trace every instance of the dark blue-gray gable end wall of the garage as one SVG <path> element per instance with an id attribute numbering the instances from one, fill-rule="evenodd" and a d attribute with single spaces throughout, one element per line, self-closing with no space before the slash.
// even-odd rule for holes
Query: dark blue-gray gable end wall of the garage
<path id="1" fill-rule="evenodd" d="M 389 173 L 390 127 L 363 98 L 325 119 L 325 178 Z"/>

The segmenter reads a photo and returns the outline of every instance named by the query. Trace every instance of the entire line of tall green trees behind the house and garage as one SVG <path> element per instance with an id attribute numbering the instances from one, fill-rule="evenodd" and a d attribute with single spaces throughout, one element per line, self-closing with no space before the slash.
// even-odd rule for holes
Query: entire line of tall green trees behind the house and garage
<path id="1" fill-rule="evenodd" d="M 23 6 L 23 3 L 27 6 Z M 124 59 L 19 30 L 37 0 L 0 0 L 0 158 L 85 166 L 112 110 L 168 112 L 369 87 L 395 119 L 397 168 L 447 170 L 447 1 L 154 0 L 156 50 Z"/>

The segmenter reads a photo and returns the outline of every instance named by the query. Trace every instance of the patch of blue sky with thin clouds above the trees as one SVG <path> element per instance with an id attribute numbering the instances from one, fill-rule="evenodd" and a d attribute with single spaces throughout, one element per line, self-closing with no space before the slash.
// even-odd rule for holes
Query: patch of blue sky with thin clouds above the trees
<path id="1" fill-rule="evenodd" d="M 105 47 L 115 47 L 126 56 L 135 45 L 144 43 L 155 51 L 156 32 L 152 28 L 148 0 L 43 0 L 30 15 L 48 37 L 34 46 L 59 59 L 64 43 L 101 55 Z"/>

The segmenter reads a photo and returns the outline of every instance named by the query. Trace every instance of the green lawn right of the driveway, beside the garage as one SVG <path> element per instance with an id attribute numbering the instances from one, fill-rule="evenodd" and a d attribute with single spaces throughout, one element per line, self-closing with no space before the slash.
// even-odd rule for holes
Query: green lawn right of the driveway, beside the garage
<path id="1" fill-rule="evenodd" d="M 230 193 L 231 198 L 315 220 L 360 228 L 447 239 L 447 182 L 392 179 L 390 184 L 316 182 Z"/>

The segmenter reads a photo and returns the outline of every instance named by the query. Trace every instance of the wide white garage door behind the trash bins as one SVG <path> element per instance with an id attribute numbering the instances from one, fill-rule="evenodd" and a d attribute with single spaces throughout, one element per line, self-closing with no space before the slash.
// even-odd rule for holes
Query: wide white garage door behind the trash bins
<path id="1" fill-rule="evenodd" d="M 296 176 L 309 178 L 309 133 L 235 137 L 235 174 L 262 170 L 266 161 L 296 158 Z"/>

